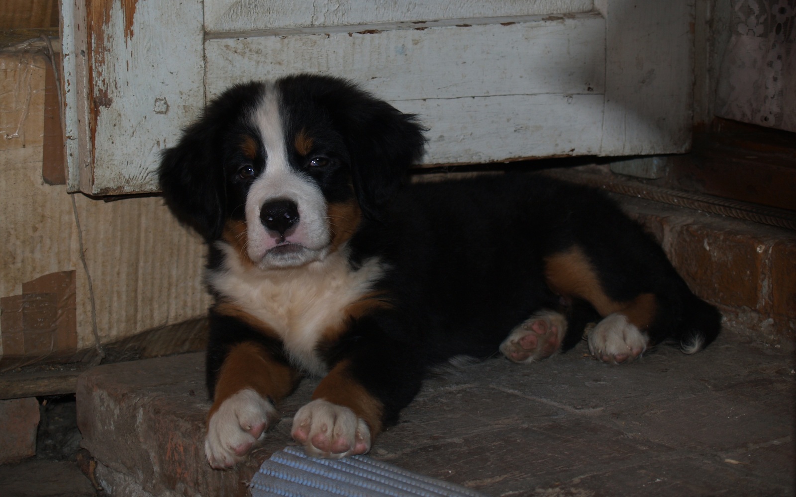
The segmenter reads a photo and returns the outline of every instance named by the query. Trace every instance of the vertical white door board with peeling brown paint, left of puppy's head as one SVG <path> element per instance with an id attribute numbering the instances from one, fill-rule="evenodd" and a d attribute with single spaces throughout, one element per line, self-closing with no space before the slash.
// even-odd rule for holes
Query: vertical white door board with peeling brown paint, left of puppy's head
<path id="1" fill-rule="evenodd" d="M 69 185 L 153 191 L 158 152 L 204 105 L 202 2 L 92 0 L 66 15 Z"/>

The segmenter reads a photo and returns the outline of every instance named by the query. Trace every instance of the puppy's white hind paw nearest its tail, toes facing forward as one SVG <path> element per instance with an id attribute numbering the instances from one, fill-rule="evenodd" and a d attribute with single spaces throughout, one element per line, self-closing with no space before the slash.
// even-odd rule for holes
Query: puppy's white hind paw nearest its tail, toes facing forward
<path id="1" fill-rule="evenodd" d="M 647 337 L 619 313 L 606 316 L 589 332 L 588 337 L 591 355 L 606 363 L 624 363 L 635 359 L 642 355 L 647 346 Z"/>

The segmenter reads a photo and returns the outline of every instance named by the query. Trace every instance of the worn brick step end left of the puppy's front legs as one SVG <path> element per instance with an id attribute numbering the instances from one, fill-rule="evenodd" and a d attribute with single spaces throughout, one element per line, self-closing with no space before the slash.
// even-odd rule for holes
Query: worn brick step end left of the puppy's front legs
<path id="1" fill-rule="evenodd" d="M 222 472 L 205 460 L 203 354 L 95 367 L 80 376 L 76 398 L 81 445 L 111 495 L 247 495 L 244 481 L 261 461 Z"/>

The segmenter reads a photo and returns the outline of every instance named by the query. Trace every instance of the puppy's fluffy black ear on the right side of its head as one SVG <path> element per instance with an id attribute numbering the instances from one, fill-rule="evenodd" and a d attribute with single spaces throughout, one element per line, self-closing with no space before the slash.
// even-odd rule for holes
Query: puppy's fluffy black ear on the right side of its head
<path id="1" fill-rule="evenodd" d="M 310 87 L 330 111 L 349 151 L 351 176 L 362 212 L 378 219 L 406 179 L 409 167 L 423 155 L 425 128 L 416 115 L 404 114 L 357 85 L 327 76 L 294 76 L 284 87 Z"/>

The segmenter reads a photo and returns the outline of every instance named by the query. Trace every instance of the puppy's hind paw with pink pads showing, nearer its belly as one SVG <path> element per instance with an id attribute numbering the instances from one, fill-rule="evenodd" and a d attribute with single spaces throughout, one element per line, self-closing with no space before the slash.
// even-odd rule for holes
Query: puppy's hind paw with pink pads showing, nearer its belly
<path id="1" fill-rule="evenodd" d="M 563 314 L 541 311 L 514 328 L 500 344 L 500 351 L 515 363 L 533 363 L 555 354 L 566 332 Z"/>

